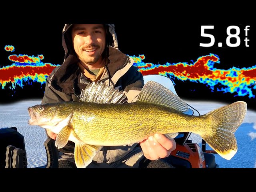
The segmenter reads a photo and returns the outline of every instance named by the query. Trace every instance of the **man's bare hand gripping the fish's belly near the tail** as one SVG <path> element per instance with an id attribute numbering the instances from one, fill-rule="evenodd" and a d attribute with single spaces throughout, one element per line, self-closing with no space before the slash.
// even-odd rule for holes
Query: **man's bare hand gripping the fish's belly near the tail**
<path id="1" fill-rule="evenodd" d="M 170 156 L 176 148 L 175 140 L 168 139 L 163 134 L 154 134 L 140 142 L 144 156 L 149 160 L 158 160 Z"/>

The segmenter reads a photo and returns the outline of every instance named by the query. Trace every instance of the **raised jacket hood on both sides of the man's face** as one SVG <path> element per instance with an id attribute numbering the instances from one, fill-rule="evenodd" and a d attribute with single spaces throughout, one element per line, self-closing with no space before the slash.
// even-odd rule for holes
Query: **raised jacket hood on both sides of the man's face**
<path id="1" fill-rule="evenodd" d="M 65 24 L 62 30 L 62 46 L 65 50 L 64 60 L 70 54 L 75 54 L 72 46 L 72 40 L 70 35 L 70 28 L 73 24 Z M 104 24 L 106 27 L 106 46 L 112 46 L 118 50 L 118 41 L 115 32 L 115 25 L 114 24 Z"/>

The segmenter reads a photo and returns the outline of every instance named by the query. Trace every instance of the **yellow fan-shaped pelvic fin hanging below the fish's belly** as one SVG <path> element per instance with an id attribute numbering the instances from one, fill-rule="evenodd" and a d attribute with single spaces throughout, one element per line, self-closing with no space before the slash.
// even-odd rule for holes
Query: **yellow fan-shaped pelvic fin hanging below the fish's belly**
<path id="1" fill-rule="evenodd" d="M 83 143 L 75 144 L 74 156 L 77 168 L 86 168 L 102 147 L 103 146 L 87 145 Z"/>

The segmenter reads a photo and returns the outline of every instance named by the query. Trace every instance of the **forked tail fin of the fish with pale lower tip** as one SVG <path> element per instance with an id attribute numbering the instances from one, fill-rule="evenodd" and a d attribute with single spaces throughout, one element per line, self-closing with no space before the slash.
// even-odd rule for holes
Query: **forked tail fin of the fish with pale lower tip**
<path id="1" fill-rule="evenodd" d="M 201 136 L 224 159 L 230 160 L 237 152 L 234 133 L 242 124 L 246 111 L 246 102 L 238 101 L 205 115 L 210 118 L 212 128 Z"/>

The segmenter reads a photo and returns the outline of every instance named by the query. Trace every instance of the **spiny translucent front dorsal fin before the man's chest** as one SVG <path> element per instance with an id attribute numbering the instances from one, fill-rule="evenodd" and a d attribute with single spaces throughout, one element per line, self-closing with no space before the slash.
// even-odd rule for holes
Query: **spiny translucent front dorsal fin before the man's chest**
<path id="1" fill-rule="evenodd" d="M 92 82 L 81 91 L 80 101 L 98 104 L 124 103 L 127 101 L 127 97 L 123 91 L 115 90 L 112 85 L 108 86 L 103 82 Z"/>

